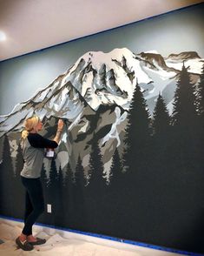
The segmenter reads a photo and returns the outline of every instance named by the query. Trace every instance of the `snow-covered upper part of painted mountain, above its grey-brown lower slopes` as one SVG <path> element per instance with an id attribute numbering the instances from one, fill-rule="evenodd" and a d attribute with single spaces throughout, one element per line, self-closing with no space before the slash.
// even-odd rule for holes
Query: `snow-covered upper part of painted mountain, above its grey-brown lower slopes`
<path id="1" fill-rule="evenodd" d="M 33 98 L 0 117 L 0 137 L 21 129 L 23 120 L 34 113 L 42 119 L 57 117 L 73 122 L 86 105 L 92 111 L 97 111 L 100 105 L 119 105 L 128 111 L 136 83 L 144 91 L 150 112 L 159 93 L 170 109 L 184 57 L 189 71 L 201 74 L 203 60 L 193 51 L 172 54 L 167 59 L 156 51 L 135 54 L 127 48 L 107 53 L 89 51 Z"/>

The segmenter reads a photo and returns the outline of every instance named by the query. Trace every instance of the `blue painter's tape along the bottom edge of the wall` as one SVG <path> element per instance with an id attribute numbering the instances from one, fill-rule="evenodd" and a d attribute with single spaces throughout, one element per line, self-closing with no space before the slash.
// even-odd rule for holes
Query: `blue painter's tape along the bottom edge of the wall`
<path id="1" fill-rule="evenodd" d="M 15 218 L 3 216 L 3 215 L 0 215 L 0 218 L 23 222 L 23 219 L 15 219 Z M 192 256 L 201 256 L 201 255 L 203 255 L 201 253 L 185 252 L 185 251 L 180 251 L 180 250 L 176 250 L 176 249 L 173 249 L 173 248 L 168 248 L 168 247 L 163 247 L 163 246 L 155 246 L 155 245 L 145 244 L 145 243 L 142 243 L 142 242 L 136 242 L 136 241 L 132 241 L 132 240 L 128 240 L 128 239 L 118 239 L 118 238 L 109 237 L 107 235 L 97 234 L 97 233 L 93 233 L 93 232 L 83 232 L 83 231 L 79 231 L 79 230 L 75 230 L 75 229 L 52 226 L 52 225 L 47 225 L 47 224 L 42 224 L 42 223 L 35 223 L 35 225 L 54 228 L 56 230 L 61 230 L 61 231 L 75 232 L 75 233 L 79 233 L 79 234 L 82 234 L 82 235 L 88 235 L 88 236 L 95 237 L 95 238 L 100 238 L 100 239 L 109 239 L 109 240 L 113 240 L 113 241 L 116 241 L 116 242 L 121 242 L 121 243 L 124 243 L 124 244 L 129 244 L 129 245 L 133 245 L 133 246 L 141 246 L 141 247 L 146 247 L 146 248 L 150 248 L 150 249 L 154 249 L 154 250 L 170 252 L 170 253 L 179 253 L 181 255 L 192 255 Z"/>

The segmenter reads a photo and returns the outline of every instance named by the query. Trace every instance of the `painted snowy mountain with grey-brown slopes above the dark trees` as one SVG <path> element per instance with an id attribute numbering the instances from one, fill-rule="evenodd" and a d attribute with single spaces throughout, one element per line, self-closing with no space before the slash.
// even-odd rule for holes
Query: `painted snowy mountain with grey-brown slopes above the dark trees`
<path id="1" fill-rule="evenodd" d="M 129 105 L 138 83 L 152 114 L 159 94 L 172 111 L 178 74 L 185 61 L 188 72 L 199 81 L 203 59 L 194 51 L 171 54 L 167 58 L 155 51 L 134 53 L 127 48 L 87 52 L 68 71 L 56 77 L 33 98 L 17 104 L 9 115 L 0 116 L 0 138 L 10 139 L 11 157 L 16 157 L 23 121 L 33 114 L 44 123 L 43 135 L 52 138 L 58 118 L 65 128 L 57 159 L 72 170 L 80 156 L 85 172 L 93 139 L 99 140 L 106 176 L 115 148 L 123 152 L 123 137 Z M 3 139 L 1 139 L 3 140 Z M 2 144 L 0 145 L 2 147 Z M 0 152 L 2 149 L 0 149 Z"/>

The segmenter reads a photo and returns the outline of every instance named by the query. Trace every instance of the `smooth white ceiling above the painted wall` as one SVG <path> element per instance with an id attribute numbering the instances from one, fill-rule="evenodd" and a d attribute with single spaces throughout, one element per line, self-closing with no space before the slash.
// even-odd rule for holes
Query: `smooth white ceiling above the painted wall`
<path id="1" fill-rule="evenodd" d="M 0 0 L 0 61 L 203 1 Z"/>

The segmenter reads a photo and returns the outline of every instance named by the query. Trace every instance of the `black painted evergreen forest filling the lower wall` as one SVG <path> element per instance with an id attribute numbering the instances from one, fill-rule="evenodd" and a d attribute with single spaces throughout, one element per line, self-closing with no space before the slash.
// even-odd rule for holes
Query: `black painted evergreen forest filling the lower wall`
<path id="1" fill-rule="evenodd" d="M 44 212 L 39 221 L 203 253 L 204 222 L 198 218 L 204 208 L 203 129 L 204 70 L 195 88 L 183 66 L 171 117 L 159 95 L 151 119 L 136 85 L 125 152 L 119 156 L 115 150 L 109 184 L 97 141 L 90 153 L 89 179 L 80 157 L 74 175 L 69 165 L 65 175 L 57 172 L 52 160 L 49 177 L 44 168 L 42 172 L 45 203 L 52 205 L 52 214 Z M 3 159 L 0 214 L 23 218 L 22 152 L 19 148 L 13 175 L 7 138 Z"/>

